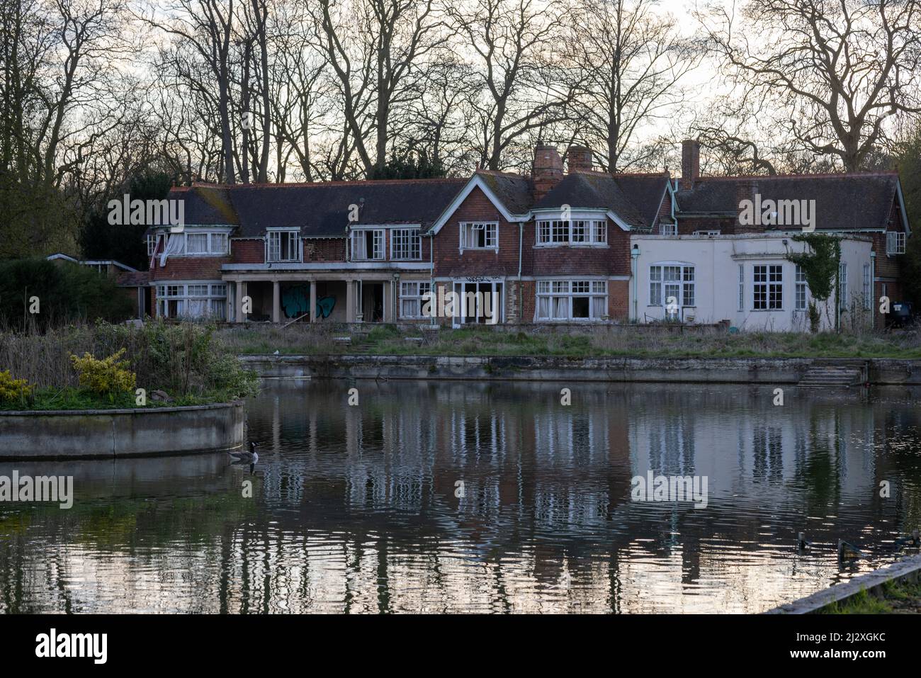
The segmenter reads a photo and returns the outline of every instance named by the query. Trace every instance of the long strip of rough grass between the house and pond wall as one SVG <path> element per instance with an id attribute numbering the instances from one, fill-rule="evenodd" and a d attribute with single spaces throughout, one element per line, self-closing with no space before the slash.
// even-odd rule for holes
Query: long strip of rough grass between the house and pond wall
<path id="1" fill-rule="evenodd" d="M 559 356 L 559 357 L 893 357 L 921 358 L 918 332 L 886 334 L 804 334 L 707 330 L 694 333 L 640 329 L 578 329 L 559 332 L 506 332 L 489 327 L 441 329 L 417 345 L 393 326 L 375 327 L 353 345 L 332 326 L 291 325 L 225 328 L 221 343 L 238 354 L 318 355 L 367 353 L 378 356 Z"/>

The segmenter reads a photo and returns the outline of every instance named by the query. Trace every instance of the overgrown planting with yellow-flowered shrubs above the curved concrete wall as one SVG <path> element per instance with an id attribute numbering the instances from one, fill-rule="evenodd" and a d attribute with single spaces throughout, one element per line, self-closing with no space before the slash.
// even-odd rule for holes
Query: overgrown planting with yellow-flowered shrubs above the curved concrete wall
<path id="1" fill-rule="evenodd" d="M 93 374 L 80 365 L 85 360 L 74 359 L 87 355 Z M 43 333 L 0 332 L 2 410 L 223 403 L 257 388 L 255 373 L 216 340 L 213 327 L 201 324 L 98 322 Z M 140 404 L 137 389 L 145 391 Z M 155 399 L 155 392 L 165 393 L 166 399 Z"/>

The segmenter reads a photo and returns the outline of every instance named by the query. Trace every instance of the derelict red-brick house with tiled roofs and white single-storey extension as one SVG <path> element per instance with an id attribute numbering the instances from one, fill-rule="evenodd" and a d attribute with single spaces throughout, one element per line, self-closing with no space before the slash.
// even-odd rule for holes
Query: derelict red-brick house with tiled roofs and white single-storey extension
<path id="1" fill-rule="evenodd" d="M 895 174 L 702 177 L 699 156 L 683 143 L 679 180 L 597 171 L 582 146 L 567 150 L 564 172 L 554 146 L 537 146 L 530 176 L 177 187 L 169 198 L 184 201 L 184 228 L 148 230 L 151 314 L 432 322 L 434 290 L 498 300 L 495 313 L 457 304 L 434 320 L 455 326 L 797 327 L 809 290 L 785 252 L 802 227 L 770 210 L 750 223 L 740 207 L 750 198 L 814 201 L 815 230 L 851 246 L 844 310 L 900 298 L 909 228 Z"/>

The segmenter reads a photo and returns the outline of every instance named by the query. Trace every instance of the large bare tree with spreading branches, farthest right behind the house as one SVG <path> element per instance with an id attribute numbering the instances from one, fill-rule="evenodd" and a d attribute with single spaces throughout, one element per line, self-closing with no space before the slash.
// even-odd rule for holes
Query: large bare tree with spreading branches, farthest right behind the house
<path id="1" fill-rule="evenodd" d="M 737 96 L 770 102 L 798 151 L 862 169 L 890 143 L 887 119 L 921 112 L 916 0 L 750 0 L 699 16 Z M 741 93 L 741 94 L 740 94 Z"/>

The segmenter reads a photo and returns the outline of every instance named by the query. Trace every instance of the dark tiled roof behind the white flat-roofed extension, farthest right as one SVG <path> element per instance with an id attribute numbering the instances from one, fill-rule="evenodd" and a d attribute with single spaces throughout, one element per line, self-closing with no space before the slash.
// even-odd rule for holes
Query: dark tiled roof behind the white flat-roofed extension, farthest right
<path id="1" fill-rule="evenodd" d="M 736 186 L 754 181 L 765 200 L 815 200 L 817 230 L 879 230 L 886 228 L 893 201 L 899 197 L 895 173 L 805 174 L 786 176 L 712 177 L 694 182 L 676 194 L 682 216 L 736 216 Z M 901 202 L 901 199 L 900 199 Z M 784 229 L 788 227 L 778 226 Z"/>

